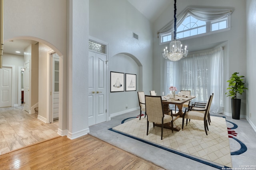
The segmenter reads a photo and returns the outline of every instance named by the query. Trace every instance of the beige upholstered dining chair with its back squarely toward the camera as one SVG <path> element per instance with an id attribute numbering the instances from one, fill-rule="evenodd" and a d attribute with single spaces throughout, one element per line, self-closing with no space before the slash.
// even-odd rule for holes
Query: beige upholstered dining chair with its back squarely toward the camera
<path id="1" fill-rule="evenodd" d="M 153 127 L 155 127 L 155 123 L 162 125 L 161 140 L 163 139 L 164 123 L 171 122 L 172 133 L 173 133 L 172 110 L 166 112 L 166 113 L 170 112 L 170 115 L 164 114 L 163 106 L 162 106 L 162 97 L 145 95 L 145 104 L 146 104 L 146 113 L 147 113 L 147 135 L 148 135 L 149 121 L 153 122 Z"/>

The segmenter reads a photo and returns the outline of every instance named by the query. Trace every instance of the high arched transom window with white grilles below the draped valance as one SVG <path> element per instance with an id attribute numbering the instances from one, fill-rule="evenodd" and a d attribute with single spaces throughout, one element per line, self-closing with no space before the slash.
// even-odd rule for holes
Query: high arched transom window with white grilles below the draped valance
<path id="1" fill-rule="evenodd" d="M 177 39 L 182 39 L 195 35 L 203 36 L 218 30 L 226 31 L 225 28 L 230 27 L 230 25 L 228 25 L 229 21 L 230 16 L 216 21 L 202 21 L 188 15 L 177 27 L 176 37 Z M 174 32 L 160 36 L 160 43 L 168 42 L 172 40 L 171 37 L 174 37 Z"/>

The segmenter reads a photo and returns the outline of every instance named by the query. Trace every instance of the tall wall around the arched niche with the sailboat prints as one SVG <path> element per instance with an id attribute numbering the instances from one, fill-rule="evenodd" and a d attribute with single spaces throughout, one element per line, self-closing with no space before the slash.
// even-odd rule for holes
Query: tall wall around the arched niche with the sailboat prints
<path id="1" fill-rule="evenodd" d="M 108 43 L 109 71 L 132 72 L 125 68 L 126 63 L 118 60 L 114 62 L 116 55 L 128 53 L 136 61 L 141 63 L 140 89 L 149 94 L 152 90 L 152 29 L 150 22 L 126 0 L 90 0 L 90 27 L 89 35 Z M 132 37 L 132 33 L 139 36 L 139 40 Z M 115 56 L 115 57 L 114 57 Z M 113 59 L 112 59 L 113 57 Z M 135 61 L 134 60 L 134 61 Z M 132 63 L 129 63 L 132 64 Z M 132 68 L 134 67 L 132 65 Z M 108 72 L 108 80 L 110 72 Z M 142 83 L 143 82 L 143 83 Z M 110 89 L 108 89 L 110 92 Z M 125 111 L 126 100 L 135 100 L 137 103 L 130 104 L 129 108 L 138 107 L 138 94 L 129 92 L 115 92 L 110 94 L 110 114 L 112 112 Z M 122 104 L 116 105 L 116 102 Z"/>

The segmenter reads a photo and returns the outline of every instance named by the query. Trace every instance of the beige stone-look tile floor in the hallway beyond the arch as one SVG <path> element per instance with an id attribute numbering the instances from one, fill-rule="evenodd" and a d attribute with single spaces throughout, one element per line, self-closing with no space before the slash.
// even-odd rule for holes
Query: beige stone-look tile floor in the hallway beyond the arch
<path id="1" fill-rule="evenodd" d="M 58 121 L 44 123 L 23 107 L 0 108 L 0 154 L 58 137 Z"/>

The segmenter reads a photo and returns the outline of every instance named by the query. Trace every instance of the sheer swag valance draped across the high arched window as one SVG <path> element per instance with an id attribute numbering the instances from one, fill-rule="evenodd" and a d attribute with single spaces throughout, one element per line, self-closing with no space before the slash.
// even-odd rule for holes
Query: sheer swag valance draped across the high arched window
<path id="1" fill-rule="evenodd" d="M 229 9 L 212 9 L 212 8 L 187 8 L 181 15 L 177 17 L 177 26 L 180 26 L 182 21 L 191 15 L 194 18 L 202 21 L 214 21 L 224 18 L 232 14 L 232 10 Z M 170 33 L 174 31 L 174 20 L 166 24 L 162 29 L 158 31 L 158 35 Z"/>

